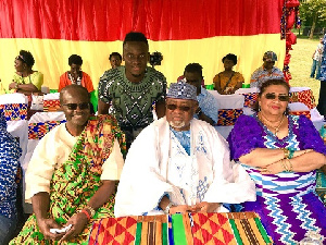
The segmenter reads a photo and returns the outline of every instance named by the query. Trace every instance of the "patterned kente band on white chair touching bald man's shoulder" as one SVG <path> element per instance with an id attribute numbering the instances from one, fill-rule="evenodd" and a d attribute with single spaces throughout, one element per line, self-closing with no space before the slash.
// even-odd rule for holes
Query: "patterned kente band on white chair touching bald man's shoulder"
<path id="1" fill-rule="evenodd" d="M 28 139 L 41 139 L 50 130 L 66 120 L 28 123 Z"/>

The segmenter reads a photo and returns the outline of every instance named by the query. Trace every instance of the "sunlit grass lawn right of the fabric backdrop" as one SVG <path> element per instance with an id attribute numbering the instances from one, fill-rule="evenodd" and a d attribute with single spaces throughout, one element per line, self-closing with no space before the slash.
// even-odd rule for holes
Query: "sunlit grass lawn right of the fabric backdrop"
<path id="1" fill-rule="evenodd" d="M 292 79 L 290 85 L 292 87 L 310 87 L 313 95 L 318 102 L 321 82 L 310 78 L 312 54 L 318 45 L 318 39 L 303 39 L 298 38 L 297 45 L 293 45 L 293 50 L 290 50 L 290 72 Z"/>

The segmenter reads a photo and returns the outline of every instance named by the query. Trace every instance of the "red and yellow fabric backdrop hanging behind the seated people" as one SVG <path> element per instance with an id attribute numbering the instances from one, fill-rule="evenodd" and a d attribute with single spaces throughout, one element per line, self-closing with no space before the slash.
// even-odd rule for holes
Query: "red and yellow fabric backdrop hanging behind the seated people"
<path id="1" fill-rule="evenodd" d="M 283 68 L 286 40 L 280 38 L 285 0 L 7 0 L 0 2 L 0 78 L 12 81 L 13 61 L 21 49 L 29 50 L 34 70 L 45 74 L 45 85 L 58 88 L 67 71 L 67 58 L 82 56 L 83 71 L 95 87 L 110 69 L 109 54 L 122 53 L 130 30 L 142 32 L 150 52 L 163 54 L 155 66 L 175 82 L 190 62 L 203 66 L 206 84 L 223 71 L 222 58 L 238 56 L 235 71 L 249 83 L 262 64 L 263 53 L 278 56 Z"/>

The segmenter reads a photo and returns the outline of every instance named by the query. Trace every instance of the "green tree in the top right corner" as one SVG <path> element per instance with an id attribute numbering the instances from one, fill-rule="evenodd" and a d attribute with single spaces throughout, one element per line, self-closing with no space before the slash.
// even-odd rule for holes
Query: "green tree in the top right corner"
<path id="1" fill-rule="evenodd" d="M 316 27 L 325 27 L 326 0 L 302 0 L 300 16 L 305 26 L 311 26 L 309 38 L 313 38 Z"/>

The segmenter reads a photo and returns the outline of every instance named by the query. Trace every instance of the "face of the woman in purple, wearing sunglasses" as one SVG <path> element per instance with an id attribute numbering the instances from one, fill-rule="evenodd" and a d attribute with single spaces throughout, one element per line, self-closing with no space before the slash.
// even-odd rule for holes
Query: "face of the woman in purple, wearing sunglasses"
<path id="1" fill-rule="evenodd" d="M 268 99 L 275 95 L 275 99 Z M 266 117 L 281 115 L 287 109 L 288 101 L 280 101 L 279 96 L 288 96 L 289 90 L 283 85 L 271 85 L 265 88 L 261 97 L 259 97 L 259 105 L 261 112 Z"/>

